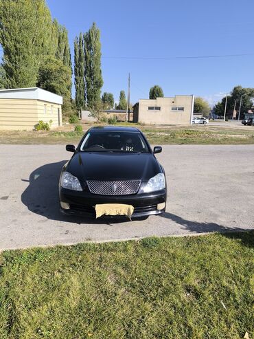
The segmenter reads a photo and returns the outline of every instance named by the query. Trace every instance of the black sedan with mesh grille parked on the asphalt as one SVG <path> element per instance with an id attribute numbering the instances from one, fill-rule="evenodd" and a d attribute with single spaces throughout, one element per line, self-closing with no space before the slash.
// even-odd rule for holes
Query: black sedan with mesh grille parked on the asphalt
<path id="1" fill-rule="evenodd" d="M 165 172 L 139 129 L 93 127 L 62 168 L 59 181 L 60 209 L 65 214 L 95 217 L 95 206 L 127 204 L 132 217 L 159 215 L 165 211 Z"/>

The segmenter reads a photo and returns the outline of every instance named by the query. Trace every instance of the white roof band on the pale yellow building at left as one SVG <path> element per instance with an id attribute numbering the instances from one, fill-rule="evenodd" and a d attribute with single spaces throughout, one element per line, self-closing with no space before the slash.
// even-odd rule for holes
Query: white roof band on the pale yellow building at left
<path id="1" fill-rule="evenodd" d="M 38 87 L 0 89 L 0 99 L 34 99 L 62 105 L 62 96 Z"/>

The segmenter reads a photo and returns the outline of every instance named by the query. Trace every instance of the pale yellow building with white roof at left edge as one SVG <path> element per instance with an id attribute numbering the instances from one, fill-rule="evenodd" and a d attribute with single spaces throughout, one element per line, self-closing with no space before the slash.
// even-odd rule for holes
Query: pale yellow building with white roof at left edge
<path id="1" fill-rule="evenodd" d="M 62 125 L 62 96 L 44 89 L 0 89 L 0 130 L 32 130 L 39 120 Z"/>

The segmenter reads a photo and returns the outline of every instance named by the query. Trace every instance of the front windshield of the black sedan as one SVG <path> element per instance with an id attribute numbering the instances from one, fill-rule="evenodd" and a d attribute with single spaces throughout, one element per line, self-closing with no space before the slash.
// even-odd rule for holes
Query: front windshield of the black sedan
<path id="1" fill-rule="evenodd" d="M 149 153 L 141 133 L 91 131 L 84 138 L 80 151 L 112 151 Z"/>

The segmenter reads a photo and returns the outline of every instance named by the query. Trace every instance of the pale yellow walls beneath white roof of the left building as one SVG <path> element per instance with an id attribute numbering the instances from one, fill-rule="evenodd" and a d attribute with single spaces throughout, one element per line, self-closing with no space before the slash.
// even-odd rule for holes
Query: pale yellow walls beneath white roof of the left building
<path id="1" fill-rule="evenodd" d="M 62 125 L 61 105 L 43 100 L 0 98 L 1 130 L 32 130 L 39 120 L 48 123 L 52 120 L 53 128 Z"/>

